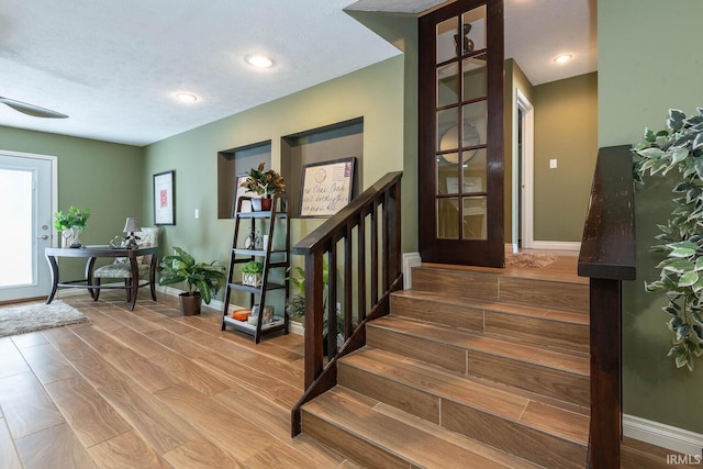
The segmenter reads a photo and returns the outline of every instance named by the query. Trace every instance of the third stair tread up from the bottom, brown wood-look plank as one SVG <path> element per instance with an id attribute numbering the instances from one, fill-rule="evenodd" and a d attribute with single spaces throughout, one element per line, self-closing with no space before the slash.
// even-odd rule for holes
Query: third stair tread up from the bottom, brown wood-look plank
<path id="1" fill-rule="evenodd" d="M 426 337 L 456 347 L 509 357 L 574 375 L 588 377 L 590 373 L 590 357 L 585 353 L 548 349 L 526 343 L 517 344 L 466 330 L 459 331 L 436 323 L 395 315 L 372 321 L 368 326 L 386 328 L 398 334 Z"/>

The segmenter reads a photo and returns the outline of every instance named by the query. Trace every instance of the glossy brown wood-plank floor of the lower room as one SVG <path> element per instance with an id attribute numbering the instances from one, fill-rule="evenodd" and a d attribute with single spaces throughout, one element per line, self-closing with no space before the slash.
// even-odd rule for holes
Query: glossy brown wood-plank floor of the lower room
<path id="1" fill-rule="evenodd" d="M 133 312 L 119 292 L 59 299 L 90 322 L 0 338 L 0 468 L 357 467 L 290 437 L 302 337 L 254 345 L 165 294 L 141 292 Z M 671 467 L 635 444 L 623 467 Z"/>

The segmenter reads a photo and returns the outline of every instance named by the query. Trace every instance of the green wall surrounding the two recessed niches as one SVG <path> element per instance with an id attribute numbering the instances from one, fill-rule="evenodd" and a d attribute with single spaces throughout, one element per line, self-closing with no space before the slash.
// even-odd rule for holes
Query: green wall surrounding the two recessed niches
<path id="1" fill-rule="evenodd" d="M 400 55 L 147 146 L 142 188 L 148 194 L 142 203 L 146 221 L 153 216 L 152 175 L 176 170 L 177 224 L 164 226 L 164 253 L 179 246 L 199 260 L 228 260 L 234 222 L 217 220 L 220 150 L 270 139 L 272 167 L 280 169 L 281 137 L 362 116 L 364 189 L 389 171 L 402 170 L 403 74 Z M 335 157 L 330 155 L 331 159 Z M 405 187 L 408 191 L 414 192 L 414 188 Z M 198 220 L 196 209 L 200 211 Z M 293 220 L 292 244 L 320 223 Z"/>

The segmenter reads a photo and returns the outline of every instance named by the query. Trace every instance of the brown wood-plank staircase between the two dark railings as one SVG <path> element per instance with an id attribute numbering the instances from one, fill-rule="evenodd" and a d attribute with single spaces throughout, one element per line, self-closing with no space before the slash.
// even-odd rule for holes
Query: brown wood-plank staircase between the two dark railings
<path id="1" fill-rule="evenodd" d="M 413 269 L 302 432 L 367 467 L 585 467 L 588 283 L 538 270 Z"/>

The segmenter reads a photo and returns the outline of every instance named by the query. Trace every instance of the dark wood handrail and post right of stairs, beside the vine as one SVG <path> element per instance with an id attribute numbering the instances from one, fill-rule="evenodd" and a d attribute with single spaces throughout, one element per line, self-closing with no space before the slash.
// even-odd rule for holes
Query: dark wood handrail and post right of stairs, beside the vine
<path id="1" fill-rule="evenodd" d="M 629 146 L 601 148 L 583 228 L 579 276 L 590 278 L 589 467 L 620 467 L 622 281 L 635 279 L 635 201 Z"/>

